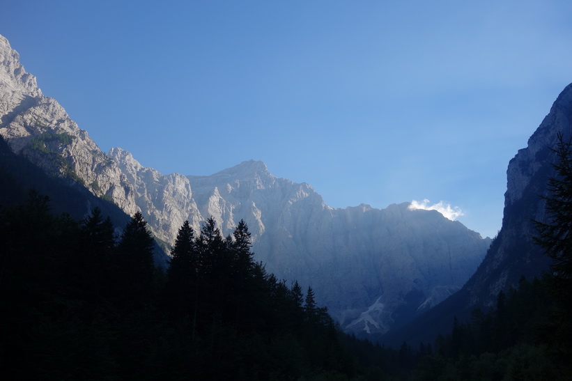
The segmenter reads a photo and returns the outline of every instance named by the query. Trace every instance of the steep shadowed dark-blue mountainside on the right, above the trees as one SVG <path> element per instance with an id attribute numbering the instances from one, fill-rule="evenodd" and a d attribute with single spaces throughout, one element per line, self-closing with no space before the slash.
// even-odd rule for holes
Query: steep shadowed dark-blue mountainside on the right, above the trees
<path id="1" fill-rule="evenodd" d="M 539 278 L 548 270 L 549 258 L 532 239 L 536 235 L 533 221 L 548 222 L 542 196 L 548 196 L 548 178 L 555 176 L 552 164 L 557 157 L 550 148 L 556 146 L 559 132 L 564 141 L 572 139 L 572 84 L 552 104 L 527 147 L 509 162 L 502 228 L 477 272 L 458 293 L 403 329 L 390 332 L 382 342 L 397 346 L 403 341 L 433 341 L 438 333 L 449 332 L 454 317 L 468 319 L 475 308 L 487 311 L 495 306 L 500 291 L 518 288 L 521 277 Z"/>

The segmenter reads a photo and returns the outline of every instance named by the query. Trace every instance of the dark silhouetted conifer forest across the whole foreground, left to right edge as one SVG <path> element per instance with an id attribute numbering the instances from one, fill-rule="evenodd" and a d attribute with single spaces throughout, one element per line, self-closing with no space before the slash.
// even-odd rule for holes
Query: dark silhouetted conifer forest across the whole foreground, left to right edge
<path id="1" fill-rule="evenodd" d="M 562 137 L 536 244 L 552 259 L 495 308 L 431 343 L 343 334 L 311 287 L 254 261 L 247 225 L 180 227 L 167 268 L 141 213 L 54 215 L 30 191 L 0 208 L 3 380 L 572 379 L 572 153 Z"/>

